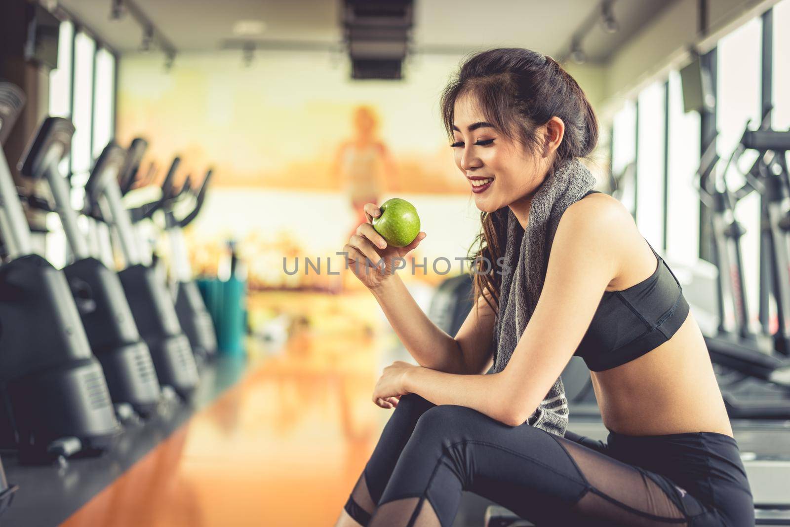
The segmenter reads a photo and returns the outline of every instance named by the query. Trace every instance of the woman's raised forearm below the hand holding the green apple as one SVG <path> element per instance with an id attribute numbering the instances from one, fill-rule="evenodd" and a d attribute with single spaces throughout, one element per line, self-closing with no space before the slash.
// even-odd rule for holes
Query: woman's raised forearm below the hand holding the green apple
<path id="1" fill-rule="evenodd" d="M 371 292 L 417 364 L 440 372 L 465 373 L 461 346 L 431 322 L 398 275 Z"/>

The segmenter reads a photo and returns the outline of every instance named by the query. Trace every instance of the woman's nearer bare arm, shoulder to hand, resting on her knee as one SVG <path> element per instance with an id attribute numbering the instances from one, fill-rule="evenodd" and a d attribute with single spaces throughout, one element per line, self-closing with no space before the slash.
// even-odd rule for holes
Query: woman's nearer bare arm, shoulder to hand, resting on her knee
<path id="1" fill-rule="evenodd" d="M 411 368 L 404 373 L 404 391 L 435 405 L 467 406 L 511 426 L 532 415 L 570 361 L 604 290 L 617 276 L 627 251 L 623 240 L 633 239 L 623 236 L 635 227 L 627 225 L 633 219 L 622 205 L 589 201 L 583 207 L 581 202 L 572 205 L 562 215 L 543 291 L 506 368 L 467 376 Z"/>

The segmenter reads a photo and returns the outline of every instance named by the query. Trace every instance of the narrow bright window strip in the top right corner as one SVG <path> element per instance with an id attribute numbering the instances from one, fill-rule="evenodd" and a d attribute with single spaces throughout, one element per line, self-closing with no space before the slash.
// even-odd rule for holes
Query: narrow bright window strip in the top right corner
<path id="1" fill-rule="evenodd" d="M 790 129 L 790 0 L 773 6 L 773 129 Z"/>

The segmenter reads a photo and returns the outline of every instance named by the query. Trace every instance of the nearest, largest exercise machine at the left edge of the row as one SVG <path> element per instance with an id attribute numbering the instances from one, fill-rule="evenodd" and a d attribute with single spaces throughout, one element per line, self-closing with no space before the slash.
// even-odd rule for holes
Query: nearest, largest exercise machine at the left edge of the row
<path id="1" fill-rule="evenodd" d="M 5 136 L 24 104 L 0 82 Z M 30 148 L 28 148 L 29 151 Z M 21 462 L 100 453 L 121 432 L 66 275 L 32 250 L 28 223 L 0 150 L 0 446 Z"/>

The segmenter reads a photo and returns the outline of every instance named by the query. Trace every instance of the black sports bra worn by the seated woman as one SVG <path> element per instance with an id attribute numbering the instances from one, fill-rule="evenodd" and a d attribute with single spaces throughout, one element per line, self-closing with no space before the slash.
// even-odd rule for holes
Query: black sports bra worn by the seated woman
<path id="1" fill-rule="evenodd" d="M 593 192 L 585 194 L 585 197 Z M 647 241 L 647 240 L 645 240 Z M 615 368 L 667 342 L 686 321 L 689 305 L 675 274 L 656 255 L 653 275 L 622 291 L 604 291 L 576 349 L 593 372 Z"/>

